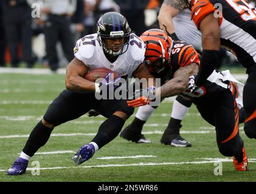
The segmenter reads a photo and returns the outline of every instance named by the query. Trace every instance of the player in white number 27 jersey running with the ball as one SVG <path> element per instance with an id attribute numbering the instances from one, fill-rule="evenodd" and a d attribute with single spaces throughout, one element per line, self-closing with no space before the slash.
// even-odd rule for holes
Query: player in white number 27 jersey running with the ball
<path id="1" fill-rule="evenodd" d="M 97 99 L 96 93 L 102 92 L 101 87 L 99 83 L 85 79 L 89 70 L 105 67 L 123 78 L 133 76 L 153 78 L 155 81 L 145 66 L 144 42 L 131 33 L 126 19 L 119 13 L 105 13 L 97 22 L 97 33 L 79 39 L 74 53 L 75 58 L 67 65 L 66 89 L 49 105 L 7 175 L 25 173 L 29 159 L 46 144 L 56 126 L 79 118 L 91 109 L 108 119 L 100 125 L 92 141 L 73 156 L 75 164 L 87 161 L 97 150 L 116 138 L 134 109 L 126 104 L 126 99 Z M 151 89 L 154 90 L 154 87 Z"/>

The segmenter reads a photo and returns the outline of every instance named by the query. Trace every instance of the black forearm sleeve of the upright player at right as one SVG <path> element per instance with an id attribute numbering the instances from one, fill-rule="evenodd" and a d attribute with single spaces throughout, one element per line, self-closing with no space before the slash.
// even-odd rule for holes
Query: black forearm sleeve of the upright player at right
<path id="1" fill-rule="evenodd" d="M 202 85 L 206 79 L 212 74 L 220 59 L 220 51 L 218 50 L 202 50 L 202 59 L 198 75 L 196 76 L 196 85 Z"/>

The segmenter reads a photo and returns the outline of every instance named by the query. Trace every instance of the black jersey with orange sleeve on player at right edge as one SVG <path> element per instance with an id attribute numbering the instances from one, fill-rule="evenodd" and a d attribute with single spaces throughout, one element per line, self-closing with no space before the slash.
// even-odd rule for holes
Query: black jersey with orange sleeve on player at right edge
<path id="1" fill-rule="evenodd" d="M 221 45 L 249 68 L 256 64 L 256 10 L 246 0 L 198 0 L 192 7 L 192 19 L 199 29 L 204 17 L 219 17 Z"/>

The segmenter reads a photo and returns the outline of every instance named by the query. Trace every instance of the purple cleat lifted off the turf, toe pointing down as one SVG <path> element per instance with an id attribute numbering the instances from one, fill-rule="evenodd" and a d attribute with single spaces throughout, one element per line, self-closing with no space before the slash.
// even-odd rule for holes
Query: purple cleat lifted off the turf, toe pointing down
<path id="1" fill-rule="evenodd" d="M 92 144 L 82 146 L 80 150 L 78 150 L 78 152 L 72 157 L 72 161 L 75 162 L 75 165 L 81 164 L 92 158 L 94 151 L 95 148 Z"/>

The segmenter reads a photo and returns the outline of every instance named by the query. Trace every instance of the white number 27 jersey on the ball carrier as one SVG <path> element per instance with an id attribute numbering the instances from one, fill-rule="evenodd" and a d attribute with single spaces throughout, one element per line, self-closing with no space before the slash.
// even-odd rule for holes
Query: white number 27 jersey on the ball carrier
<path id="1" fill-rule="evenodd" d="M 110 62 L 103 52 L 103 47 L 97 41 L 97 33 L 95 33 L 78 39 L 74 55 L 83 61 L 89 70 L 105 67 L 128 79 L 144 61 L 145 44 L 138 36 L 131 33 L 129 44 L 123 49 L 126 50 L 127 46 L 128 50 L 125 53 L 119 55 L 116 61 Z"/>

